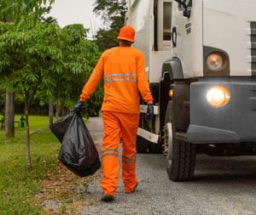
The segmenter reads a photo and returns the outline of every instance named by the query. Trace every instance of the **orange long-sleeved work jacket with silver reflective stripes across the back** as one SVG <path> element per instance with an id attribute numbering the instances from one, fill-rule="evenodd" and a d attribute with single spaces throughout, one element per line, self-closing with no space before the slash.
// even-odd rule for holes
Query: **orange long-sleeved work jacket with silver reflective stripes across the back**
<path id="1" fill-rule="evenodd" d="M 131 47 L 115 47 L 105 51 L 89 81 L 86 82 L 80 100 L 90 99 L 97 85 L 104 78 L 102 110 L 123 113 L 139 113 L 141 93 L 147 104 L 153 103 L 148 86 L 143 53 Z"/>

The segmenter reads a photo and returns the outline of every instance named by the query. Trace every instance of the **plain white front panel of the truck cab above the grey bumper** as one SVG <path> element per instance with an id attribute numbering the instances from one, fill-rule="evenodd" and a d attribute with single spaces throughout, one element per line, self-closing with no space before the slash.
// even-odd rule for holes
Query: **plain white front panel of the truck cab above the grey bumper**
<path id="1" fill-rule="evenodd" d="M 233 2 L 204 1 L 203 42 L 229 54 L 230 76 L 252 76 L 249 31 L 250 21 L 255 21 L 256 1 Z"/>

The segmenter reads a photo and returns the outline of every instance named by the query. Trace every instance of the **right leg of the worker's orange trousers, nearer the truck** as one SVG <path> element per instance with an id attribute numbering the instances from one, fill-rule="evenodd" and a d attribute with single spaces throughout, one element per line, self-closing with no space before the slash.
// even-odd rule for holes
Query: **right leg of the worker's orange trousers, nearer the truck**
<path id="1" fill-rule="evenodd" d="M 123 139 L 122 178 L 125 192 L 134 190 L 137 184 L 136 177 L 136 137 L 139 123 L 139 114 L 122 114 L 121 135 Z"/>

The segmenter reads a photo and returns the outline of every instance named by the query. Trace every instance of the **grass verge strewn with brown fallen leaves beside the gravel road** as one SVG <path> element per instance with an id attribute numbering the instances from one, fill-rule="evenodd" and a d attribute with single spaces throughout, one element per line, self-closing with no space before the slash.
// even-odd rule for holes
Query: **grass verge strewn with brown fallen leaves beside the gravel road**
<path id="1" fill-rule="evenodd" d="M 15 139 L 0 129 L 0 214 L 73 214 L 91 204 L 84 201 L 84 193 L 96 176 L 79 178 L 58 161 L 60 142 L 48 121 L 47 116 L 30 117 L 31 170 L 26 167 L 26 129 L 15 126 Z M 55 207 L 44 207 L 47 201 Z"/>

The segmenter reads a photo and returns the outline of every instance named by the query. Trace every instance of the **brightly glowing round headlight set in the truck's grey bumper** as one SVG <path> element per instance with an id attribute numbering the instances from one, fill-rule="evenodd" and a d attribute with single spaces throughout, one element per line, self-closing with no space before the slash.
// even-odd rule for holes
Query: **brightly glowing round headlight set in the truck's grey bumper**
<path id="1" fill-rule="evenodd" d="M 224 86 L 214 86 L 207 92 L 207 101 L 214 107 L 222 107 L 230 101 L 230 90 Z"/>

